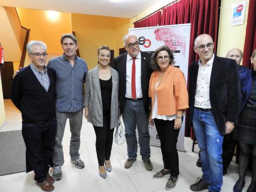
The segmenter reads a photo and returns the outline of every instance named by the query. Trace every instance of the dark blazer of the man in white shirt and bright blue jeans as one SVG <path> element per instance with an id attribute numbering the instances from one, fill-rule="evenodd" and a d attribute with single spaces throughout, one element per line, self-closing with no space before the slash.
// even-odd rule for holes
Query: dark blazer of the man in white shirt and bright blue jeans
<path id="1" fill-rule="evenodd" d="M 192 125 L 196 94 L 198 61 L 189 66 L 189 124 Z M 222 135 L 226 121 L 237 122 L 241 86 L 237 63 L 233 59 L 214 56 L 210 79 L 210 102 L 213 117 Z"/>

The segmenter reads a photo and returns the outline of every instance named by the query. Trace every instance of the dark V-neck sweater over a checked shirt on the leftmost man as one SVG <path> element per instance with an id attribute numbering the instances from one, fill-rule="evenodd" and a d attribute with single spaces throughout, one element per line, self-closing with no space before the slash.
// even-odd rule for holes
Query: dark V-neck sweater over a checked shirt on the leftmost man
<path id="1" fill-rule="evenodd" d="M 55 117 L 56 73 L 47 68 L 50 87 L 46 92 L 30 66 L 19 71 L 12 82 L 11 100 L 21 111 L 22 121 L 45 122 Z"/>

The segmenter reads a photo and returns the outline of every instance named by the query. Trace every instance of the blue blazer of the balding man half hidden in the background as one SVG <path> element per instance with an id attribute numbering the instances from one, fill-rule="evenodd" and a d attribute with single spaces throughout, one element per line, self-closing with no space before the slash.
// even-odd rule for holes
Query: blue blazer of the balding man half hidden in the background
<path id="1" fill-rule="evenodd" d="M 239 76 L 241 81 L 241 105 L 239 109 L 239 113 L 245 107 L 247 100 L 249 99 L 252 92 L 252 71 L 244 66 L 238 66 L 239 68 Z"/>

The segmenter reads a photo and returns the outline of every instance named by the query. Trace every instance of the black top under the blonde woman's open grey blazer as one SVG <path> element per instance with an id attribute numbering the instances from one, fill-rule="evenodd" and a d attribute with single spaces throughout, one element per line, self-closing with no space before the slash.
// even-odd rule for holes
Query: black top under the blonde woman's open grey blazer
<path id="1" fill-rule="evenodd" d="M 102 99 L 103 114 L 110 113 L 111 94 L 112 94 L 112 77 L 108 80 L 100 79 L 100 91 Z"/>

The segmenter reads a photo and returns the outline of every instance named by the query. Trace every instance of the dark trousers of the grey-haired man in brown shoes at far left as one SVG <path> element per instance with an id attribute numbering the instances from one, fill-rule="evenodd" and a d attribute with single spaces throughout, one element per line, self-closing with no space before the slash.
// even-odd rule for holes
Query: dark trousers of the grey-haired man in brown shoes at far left
<path id="1" fill-rule="evenodd" d="M 56 119 L 44 123 L 22 122 L 22 136 L 26 145 L 27 172 L 35 172 L 35 180 L 42 182 L 49 172 L 49 162 L 56 135 Z"/>

